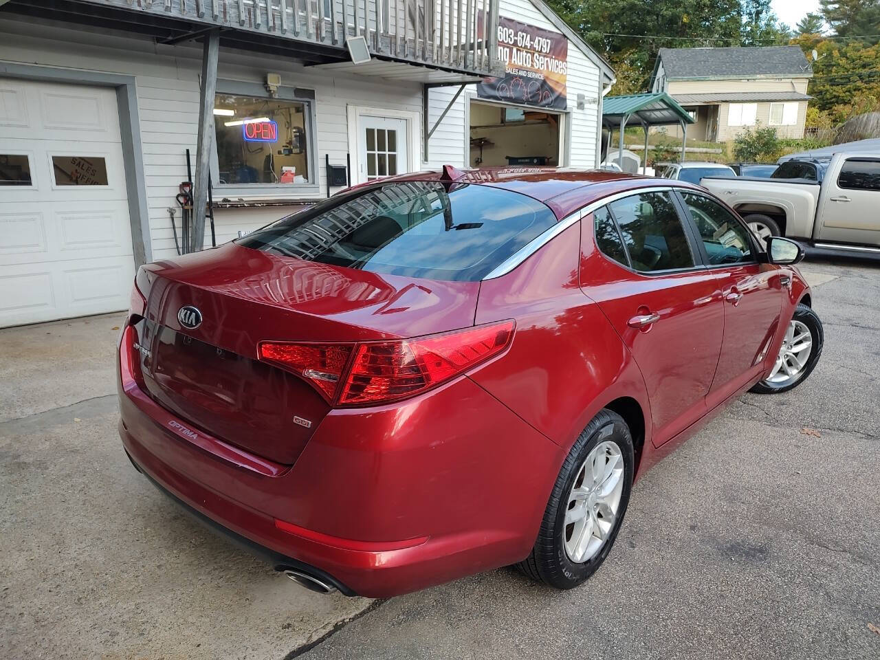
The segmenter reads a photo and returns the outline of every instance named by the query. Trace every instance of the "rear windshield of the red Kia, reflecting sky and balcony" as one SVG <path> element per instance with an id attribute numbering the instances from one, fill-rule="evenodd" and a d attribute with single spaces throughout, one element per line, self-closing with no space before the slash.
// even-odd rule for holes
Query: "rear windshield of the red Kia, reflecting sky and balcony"
<path id="1" fill-rule="evenodd" d="M 354 190 L 238 238 L 307 261 L 437 280 L 480 280 L 556 224 L 524 194 L 439 181 Z"/>

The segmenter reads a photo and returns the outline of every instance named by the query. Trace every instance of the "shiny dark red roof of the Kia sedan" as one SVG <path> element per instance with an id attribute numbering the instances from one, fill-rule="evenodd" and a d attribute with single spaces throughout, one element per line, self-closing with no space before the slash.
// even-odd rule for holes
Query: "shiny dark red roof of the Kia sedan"
<path id="1" fill-rule="evenodd" d="M 676 186 L 701 190 L 686 181 L 659 180 L 656 177 L 627 172 L 571 167 L 481 167 L 458 170 L 447 165 L 444 171 L 403 174 L 377 180 L 375 183 L 391 181 L 448 181 L 501 188 L 545 203 L 558 218 L 568 216 L 609 194 L 643 187 Z"/>

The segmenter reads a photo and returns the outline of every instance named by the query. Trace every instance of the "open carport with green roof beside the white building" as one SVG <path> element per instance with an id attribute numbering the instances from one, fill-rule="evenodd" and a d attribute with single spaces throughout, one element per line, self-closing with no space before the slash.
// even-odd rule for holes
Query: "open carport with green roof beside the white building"
<path id="1" fill-rule="evenodd" d="M 645 131 L 645 152 L 642 159 L 642 173 L 648 166 L 648 129 L 651 126 L 681 126 L 681 162 L 685 162 L 687 144 L 687 125 L 695 120 L 685 108 L 665 92 L 647 94 L 627 94 L 626 96 L 609 96 L 602 101 L 602 125 L 608 129 L 608 143 L 605 158 L 611 151 L 611 134 L 614 128 L 620 129 L 619 162 L 623 161 L 623 134 L 627 124 L 639 123 Z"/>

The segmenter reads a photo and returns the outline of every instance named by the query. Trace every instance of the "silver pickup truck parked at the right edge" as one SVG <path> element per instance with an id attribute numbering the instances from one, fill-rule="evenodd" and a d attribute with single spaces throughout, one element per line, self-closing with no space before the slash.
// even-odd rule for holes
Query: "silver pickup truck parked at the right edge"
<path id="1" fill-rule="evenodd" d="M 836 153 L 783 166 L 801 178 L 776 178 L 783 170 L 771 179 L 706 177 L 700 185 L 736 209 L 761 239 L 787 236 L 817 252 L 880 256 L 880 153 Z"/>

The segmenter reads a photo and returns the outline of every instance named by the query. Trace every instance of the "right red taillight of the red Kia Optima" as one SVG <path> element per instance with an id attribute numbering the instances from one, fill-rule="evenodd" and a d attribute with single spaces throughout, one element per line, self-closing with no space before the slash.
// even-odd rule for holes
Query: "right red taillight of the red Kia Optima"
<path id="1" fill-rule="evenodd" d="M 510 345 L 514 322 L 416 339 L 356 344 L 260 343 L 260 359 L 293 371 L 330 403 L 405 399 L 456 378 Z"/>

